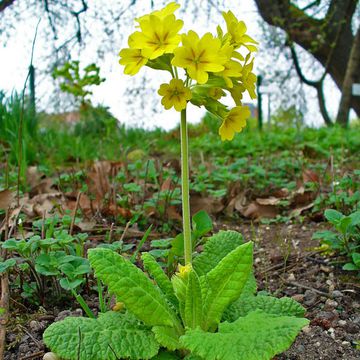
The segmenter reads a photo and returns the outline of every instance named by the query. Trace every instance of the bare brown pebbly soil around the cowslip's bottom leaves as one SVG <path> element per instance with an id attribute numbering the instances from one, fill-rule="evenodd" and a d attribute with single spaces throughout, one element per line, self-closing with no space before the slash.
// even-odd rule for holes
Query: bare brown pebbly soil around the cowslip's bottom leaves
<path id="1" fill-rule="evenodd" d="M 307 310 L 310 325 L 302 330 L 289 350 L 274 359 L 360 359 L 360 350 L 356 350 L 360 340 L 359 279 L 342 271 L 316 249 L 318 243 L 311 236 L 314 231 L 324 229 L 323 224 L 239 226 L 232 223 L 216 227 L 238 230 L 245 239 L 255 242 L 259 291 L 293 297 Z M 90 307 L 97 306 L 95 299 L 88 302 Z M 44 329 L 68 315 L 82 315 L 82 310 L 72 308 L 71 304 L 29 314 L 26 307 L 13 300 L 11 310 L 5 360 L 42 359 L 46 352 L 42 342 Z"/>

